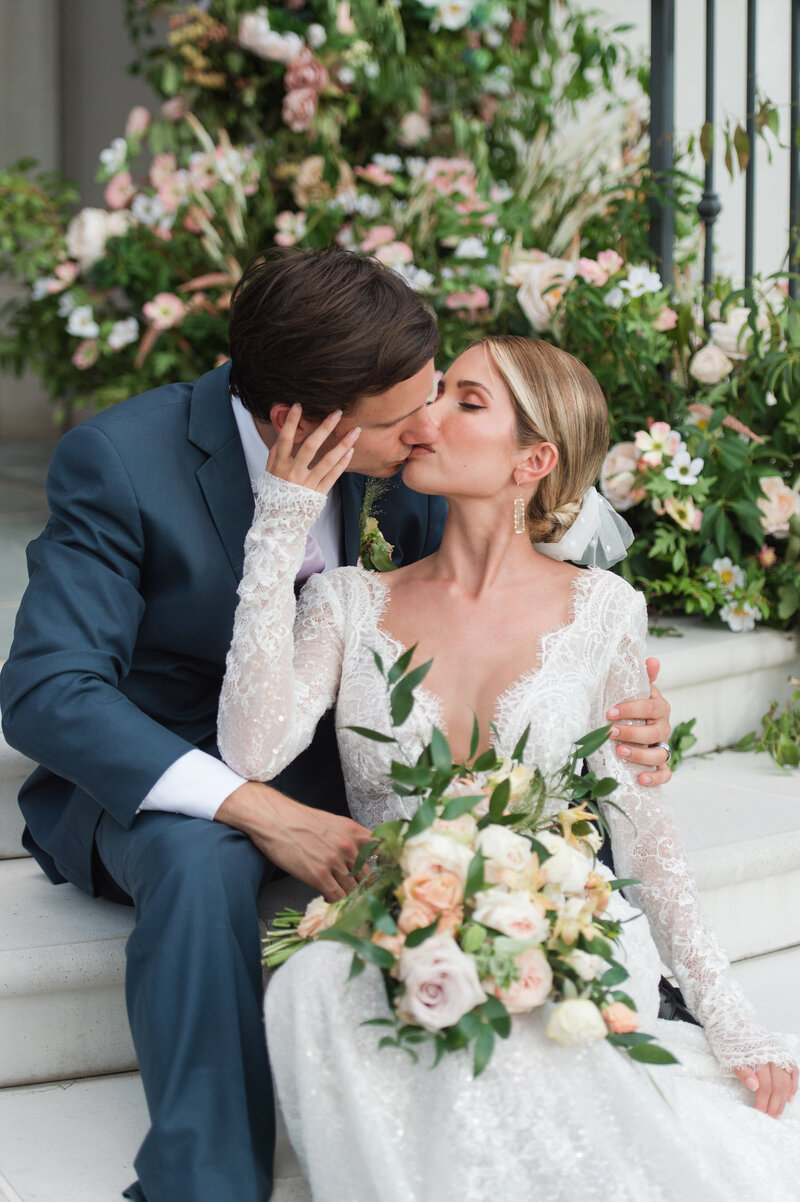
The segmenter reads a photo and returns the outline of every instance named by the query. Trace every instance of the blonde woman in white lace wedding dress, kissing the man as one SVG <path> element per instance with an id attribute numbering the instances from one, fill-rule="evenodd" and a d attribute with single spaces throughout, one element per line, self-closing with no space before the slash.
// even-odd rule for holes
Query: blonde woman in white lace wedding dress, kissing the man
<path id="1" fill-rule="evenodd" d="M 447 498 L 441 549 L 390 573 L 315 576 L 297 614 L 306 531 L 352 451 L 323 444 L 327 430 L 293 450 L 291 413 L 247 536 L 222 689 L 220 748 L 257 779 L 298 755 L 335 704 L 351 814 L 369 827 L 410 816 L 413 799 L 387 784 L 389 761 L 414 762 L 434 724 L 456 760 L 473 714 L 480 746 L 494 739 L 505 755 L 530 724 L 525 758 L 547 774 L 605 724 L 611 698 L 647 692 L 643 596 L 565 561 L 579 558 L 569 543 L 586 508 L 574 523 L 586 495 L 596 507 L 608 444 L 593 376 L 543 341 L 486 338 L 448 370 L 432 413 L 436 436 L 413 450 L 404 481 Z M 389 730 L 372 651 L 392 661 L 412 644 L 414 662 L 434 662 L 390 752 L 347 727 Z M 680 1064 L 647 1069 L 607 1041 L 559 1047 L 544 1035 L 547 1006 L 514 1019 L 478 1078 L 467 1053 L 413 1064 L 378 1051 L 380 1029 L 362 1025 L 386 1013 L 377 970 L 347 983 L 350 951 L 315 944 L 277 971 L 265 1002 L 276 1087 L 315 1202 L 574 1202 L 598 1188 L 620 1202 L 800 1198 L 800 1111 L 784 1112 L 796 1041 L 770 1035 L 732 981 L 667 798 L 608 745 L 591 767 L 622 778 L 614 799 L 627 819 L 609 807 L 607 820 L 617 874 L 640 882 L 610 910 L 626 920 L 626 987 L 643 1029 Z M 657 1018 L 662 959 L 703 1029 Z"/>

